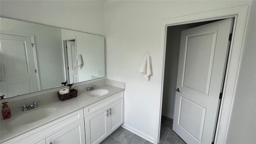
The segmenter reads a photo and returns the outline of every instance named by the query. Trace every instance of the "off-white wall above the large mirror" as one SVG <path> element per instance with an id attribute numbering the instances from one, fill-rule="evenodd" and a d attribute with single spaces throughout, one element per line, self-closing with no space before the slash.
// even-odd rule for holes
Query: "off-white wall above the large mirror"
<path id="1" fill-rule="evenodd" d="M 0 16 L 104 35 L 102 0 L 1 0 Z"/>

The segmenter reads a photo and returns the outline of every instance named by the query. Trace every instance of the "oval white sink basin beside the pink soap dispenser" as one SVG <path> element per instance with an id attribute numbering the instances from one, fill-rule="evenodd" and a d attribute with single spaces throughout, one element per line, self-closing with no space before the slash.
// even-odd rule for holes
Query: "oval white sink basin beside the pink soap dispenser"
<path id="1" fill-rule="evenodd" d="M 21 126 L 24 124 L 30 124 L 32 122 L 36 122 L 38 120 L 42 120 L 56 112 L 57 108 L 55 107 L 43 107 L 43 108 L 35 108 L 34 110 L 28 110 L 27 112 L 20 114 L 12 120 L 10 120 L 10 126 Z"/>

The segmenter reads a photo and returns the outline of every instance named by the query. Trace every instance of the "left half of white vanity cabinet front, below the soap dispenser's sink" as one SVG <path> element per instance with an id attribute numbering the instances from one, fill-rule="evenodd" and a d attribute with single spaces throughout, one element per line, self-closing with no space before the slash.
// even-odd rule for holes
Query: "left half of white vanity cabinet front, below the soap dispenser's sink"
<path id="1" fill-rule="evenodd" d="M 85 144 L 83 112 L 77 110 L 1 144 Z"/>

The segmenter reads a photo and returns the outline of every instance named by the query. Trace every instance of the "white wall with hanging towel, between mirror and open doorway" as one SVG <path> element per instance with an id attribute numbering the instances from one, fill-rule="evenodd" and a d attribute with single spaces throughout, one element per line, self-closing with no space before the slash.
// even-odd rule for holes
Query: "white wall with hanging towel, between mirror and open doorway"
<path id="1" fill-rule="evenodd" d="M 251 1 L 106 1 L 107 78 L 126 83 L 124 125 L 154 140 L 161 84 L 161 20 L 250 4 Z M 146 54 L 152 56 L 150 81 L 139 72 Z"/>

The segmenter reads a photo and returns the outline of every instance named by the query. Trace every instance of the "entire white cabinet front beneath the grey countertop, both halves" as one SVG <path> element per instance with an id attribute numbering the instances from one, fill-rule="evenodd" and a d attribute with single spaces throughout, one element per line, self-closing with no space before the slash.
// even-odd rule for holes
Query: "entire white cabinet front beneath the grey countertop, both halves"
<path id="1" fill-rule="evenodd" d="M 124 91 L 95 99 L 80 110 L 1 144 L 98 144 L 124 123 Z"/>

